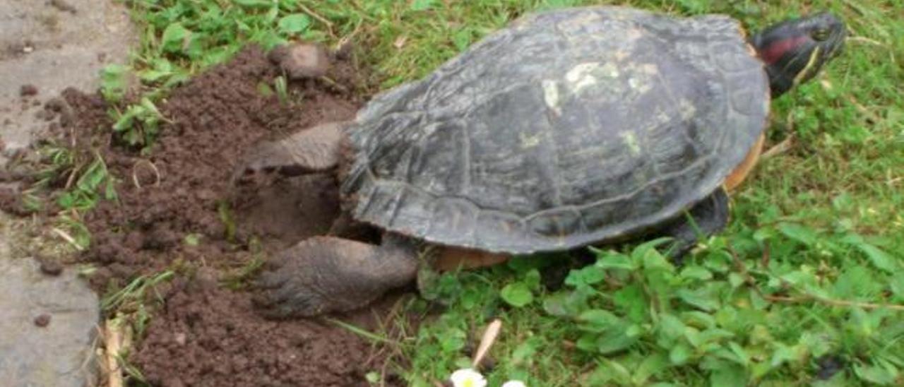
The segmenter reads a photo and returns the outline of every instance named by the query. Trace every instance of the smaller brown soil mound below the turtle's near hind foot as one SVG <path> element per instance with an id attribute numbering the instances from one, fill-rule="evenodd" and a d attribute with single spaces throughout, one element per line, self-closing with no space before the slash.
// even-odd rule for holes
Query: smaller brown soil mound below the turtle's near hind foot
<path id="1" fill-rule="evenodd" d="M 335 326 L 263 320 L 248 297 L 200 281 L 171 292 L 132 360 L 160 386 L 366 386 L 384 357 Z"/>

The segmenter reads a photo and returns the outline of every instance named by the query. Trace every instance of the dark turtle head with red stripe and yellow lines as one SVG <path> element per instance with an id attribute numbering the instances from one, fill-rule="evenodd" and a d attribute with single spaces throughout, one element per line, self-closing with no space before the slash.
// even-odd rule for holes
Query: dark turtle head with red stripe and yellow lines
<path id="1" fill-rule="evenodd" d="M 812 79 L 838 56 L 846 35 L 841 19 L 823 12 L 772 25 L 751 38 L 766 63 L 772 97 Z"/>

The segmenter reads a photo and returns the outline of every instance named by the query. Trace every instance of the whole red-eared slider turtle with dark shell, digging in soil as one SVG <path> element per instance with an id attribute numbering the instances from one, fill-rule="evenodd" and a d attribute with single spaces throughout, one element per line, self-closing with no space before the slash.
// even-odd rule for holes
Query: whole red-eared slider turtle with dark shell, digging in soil
<path id="1" fill-rule="evenodd" d="M 381 245 L 302 241 L 259 278 L 274 316 L 361 307 L 418 272 L 416 241 L 504 254 L 674 237 L 728 222 L 726 190 L 756 161 L 769 100 L 843 47 L 832 14 L 752 38 L 723 15 L 622 7 L 521 18 L 353 122 L 257 146 L 239 175 L 337 170 Z M 684 214 L 694 222 L 687 222 Z"/>

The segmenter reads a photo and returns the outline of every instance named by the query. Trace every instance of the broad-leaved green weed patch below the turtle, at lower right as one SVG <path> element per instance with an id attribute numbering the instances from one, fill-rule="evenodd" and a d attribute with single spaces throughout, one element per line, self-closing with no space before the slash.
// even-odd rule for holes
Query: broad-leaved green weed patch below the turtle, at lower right
<path id="1" fill-rule="evenodd" d="M 829 358 L 851 370 L 832 382 L 896 381 L 904 366 L 899 274 L 764 260 L 758 246 L 783 240 L 771 238 L 713 238 L 680 268 L 653 248 L 659 241 L 595 250 L 596 263 L 572 270 L 556 292 L 541 287 L 537 260 L 447 275 L 455 284 L 445 287 L 457 291 L 410 346 L 410 381 L 428 385 L 466 367 L 469 333 L 492 316 L 505 322 L 495 385 L 803 383 Z M 858 250 L 843 257 L 861 260 Z"/>

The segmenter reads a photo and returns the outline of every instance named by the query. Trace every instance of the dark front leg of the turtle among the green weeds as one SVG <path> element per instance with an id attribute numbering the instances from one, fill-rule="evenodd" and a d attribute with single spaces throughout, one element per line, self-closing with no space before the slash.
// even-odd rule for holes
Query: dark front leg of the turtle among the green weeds
<path id="1" fill-rule="evenodd" d="M 675 263 L 681 263 L 684 256 L 697 244 L 698 238 L 707 238 L 722 230 L 729 223 L 729 196 L 719 188 L 700 203 L 694 205 L 687 215 L 665 226 L 662 234 L 674 239 L 667 255 Z"/>

